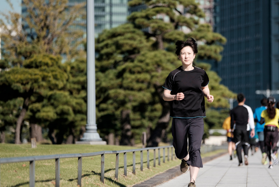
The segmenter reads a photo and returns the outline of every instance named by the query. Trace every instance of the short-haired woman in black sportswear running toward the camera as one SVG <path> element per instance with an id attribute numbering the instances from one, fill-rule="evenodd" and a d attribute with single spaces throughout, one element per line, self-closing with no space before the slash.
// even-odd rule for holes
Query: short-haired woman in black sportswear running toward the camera
<path id="1" fill-rule="evenodd" d="M 167 77 L 163 86 L 163 99 L 171 101 L 173 146 L 176 157 L 181 159 L 180 169 L 185 173 L 190 167 L 188 187 L 196 187 L 198 171 L 203 167 L 200 145 L 204 131 L 204 97 L 207 97 L 210 103 L 214 98 L 209 94 L 209 78 L 205 70 L 192 66 L 198 53 L 196 41 L 193 38 L 187 41 L 178 40 L 175 45 L 175 54 L 181 60 L 182 66 L 170 72 Z"/>

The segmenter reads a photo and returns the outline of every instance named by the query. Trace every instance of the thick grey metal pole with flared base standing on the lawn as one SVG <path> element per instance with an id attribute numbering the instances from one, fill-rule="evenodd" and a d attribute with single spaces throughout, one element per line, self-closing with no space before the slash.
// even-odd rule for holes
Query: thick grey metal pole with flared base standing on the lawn
<path id="1" fill-rule="evenodd" d="M 96 125 L 94 0 L 87 0 L 87 124 L 81 141 L 102 141 Z"/>

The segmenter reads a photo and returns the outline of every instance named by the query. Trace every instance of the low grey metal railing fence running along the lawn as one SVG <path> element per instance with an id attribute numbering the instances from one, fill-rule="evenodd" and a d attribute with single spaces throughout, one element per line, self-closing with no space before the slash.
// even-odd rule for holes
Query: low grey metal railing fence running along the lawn
<path id="1" fill-rule="evenodd" d="M 218 149 L 220 146 L 201 146 L 201 152 L 206 153 Z M 156 167 L 156 149 L 158 149 L 158 165 L 160 165 L 160 150 L 163 149 L 163 163 L 165 163 L 165 149 L 167 148 L 167 160 L 173 160 L 173 146 L 160 146 L 160 147 L 147 147 L 140 149 L 129 149 L 129 150 L 119 150 L 119 151 L 99 151 L 91 153 L 77 153 L 77 154 L 54 154 L 54 155 L 44 155 L 44 156 L 30 156 L 30 157 L 13 157 L 13 158 L 1 158 L 1 163 L 16 163 L 16 162 L 30 162 L 29 164 L 29 185 L 30 187 L 35 187 L 35 161 L 40 160 L 51 160 L 55 159 L 55 186 L 60 186 L 60 159 L 64 158 L 78 158 L 78 178 L 77 184 L 81 186 L 82 178 L 82 157 L 92 157 L 101 155 L 101 182 L 104 183 L 104 173 L 105 173 L 105 154 L 116 154 L 115 162 L 115 178 L 118 180 L 118 169 L 119 169 L 119 154 L 124 154 L 124 175 L 127 176 L 127 152 L 133 152 L 133 174 L 135 174 L 135 152 L 140 151 L 140 170 L 143 171 L 143 151 L 147 151 L 147 168 L 149 169 L 149 150 L 153 150 L 153 167 Z M 171 151 L 169 150 L 171 148 Z M 171 154 L 171 155 L 170 155 Z"/>

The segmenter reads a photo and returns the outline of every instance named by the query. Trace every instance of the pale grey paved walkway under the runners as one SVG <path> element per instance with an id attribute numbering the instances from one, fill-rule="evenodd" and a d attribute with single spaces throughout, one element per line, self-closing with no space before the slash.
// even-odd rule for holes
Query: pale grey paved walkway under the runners
<path id="1" fill-rule="evenodd" d="M 249 150 L 249 154 L 251 151 Z M 229 160 L 228 154 L 209 161 L 200 168 L 197 187 L 278 187 L 279 165 L 268 169 L 261 164 L 261 151 L 249 156 L 249 165 L 238 167 L 238 159 Z M 268 159 L 267 159 L 268 160 Z M 244 161 L 243 161 L 244 162 Z M 190 173 L 184 173 L 157 187 L 184 187 L 190 182 Z"/>

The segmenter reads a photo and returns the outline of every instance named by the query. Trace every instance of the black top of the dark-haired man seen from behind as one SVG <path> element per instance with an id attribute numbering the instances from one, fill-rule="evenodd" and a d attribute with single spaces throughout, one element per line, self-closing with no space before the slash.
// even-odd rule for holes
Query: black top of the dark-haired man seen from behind
<path id="1" fill-rule="evenodd" d="M 231 129 L 235 128 L 246 130 L 248 124 L 249 113 L 246 107 L 244 106 L 236 106 L 231 111 Z"/>

